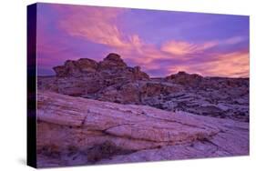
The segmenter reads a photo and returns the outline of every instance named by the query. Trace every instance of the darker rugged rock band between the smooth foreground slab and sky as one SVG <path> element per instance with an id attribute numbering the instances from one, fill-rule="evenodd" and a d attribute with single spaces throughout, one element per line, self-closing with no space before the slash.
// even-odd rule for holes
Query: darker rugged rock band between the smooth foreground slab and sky
<path id="1" fill-rule="evenodd" d="M 248 78 L 185 72 L 150 78 L 139 66 L 129 67 L 117 54 L 98 63 L 87 58 L 67 60 L 54 70 L 56 76 L 38 76 L 39 90 L 249 122 Z"/>

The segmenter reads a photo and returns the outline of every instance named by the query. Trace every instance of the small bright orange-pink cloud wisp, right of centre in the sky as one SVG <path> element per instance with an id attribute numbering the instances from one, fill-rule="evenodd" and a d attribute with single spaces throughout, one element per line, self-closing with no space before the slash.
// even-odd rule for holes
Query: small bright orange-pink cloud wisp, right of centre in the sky
<path id="1" fill-rule="evenodd" d="M 162 45 L 161 50 L 173 55 L 188 55 L 200 53 L 215 45 L 218 45 L 215 41 L 206 42 L 204 44 L 192 44 L 185 41 L 169 41 Z"/>

